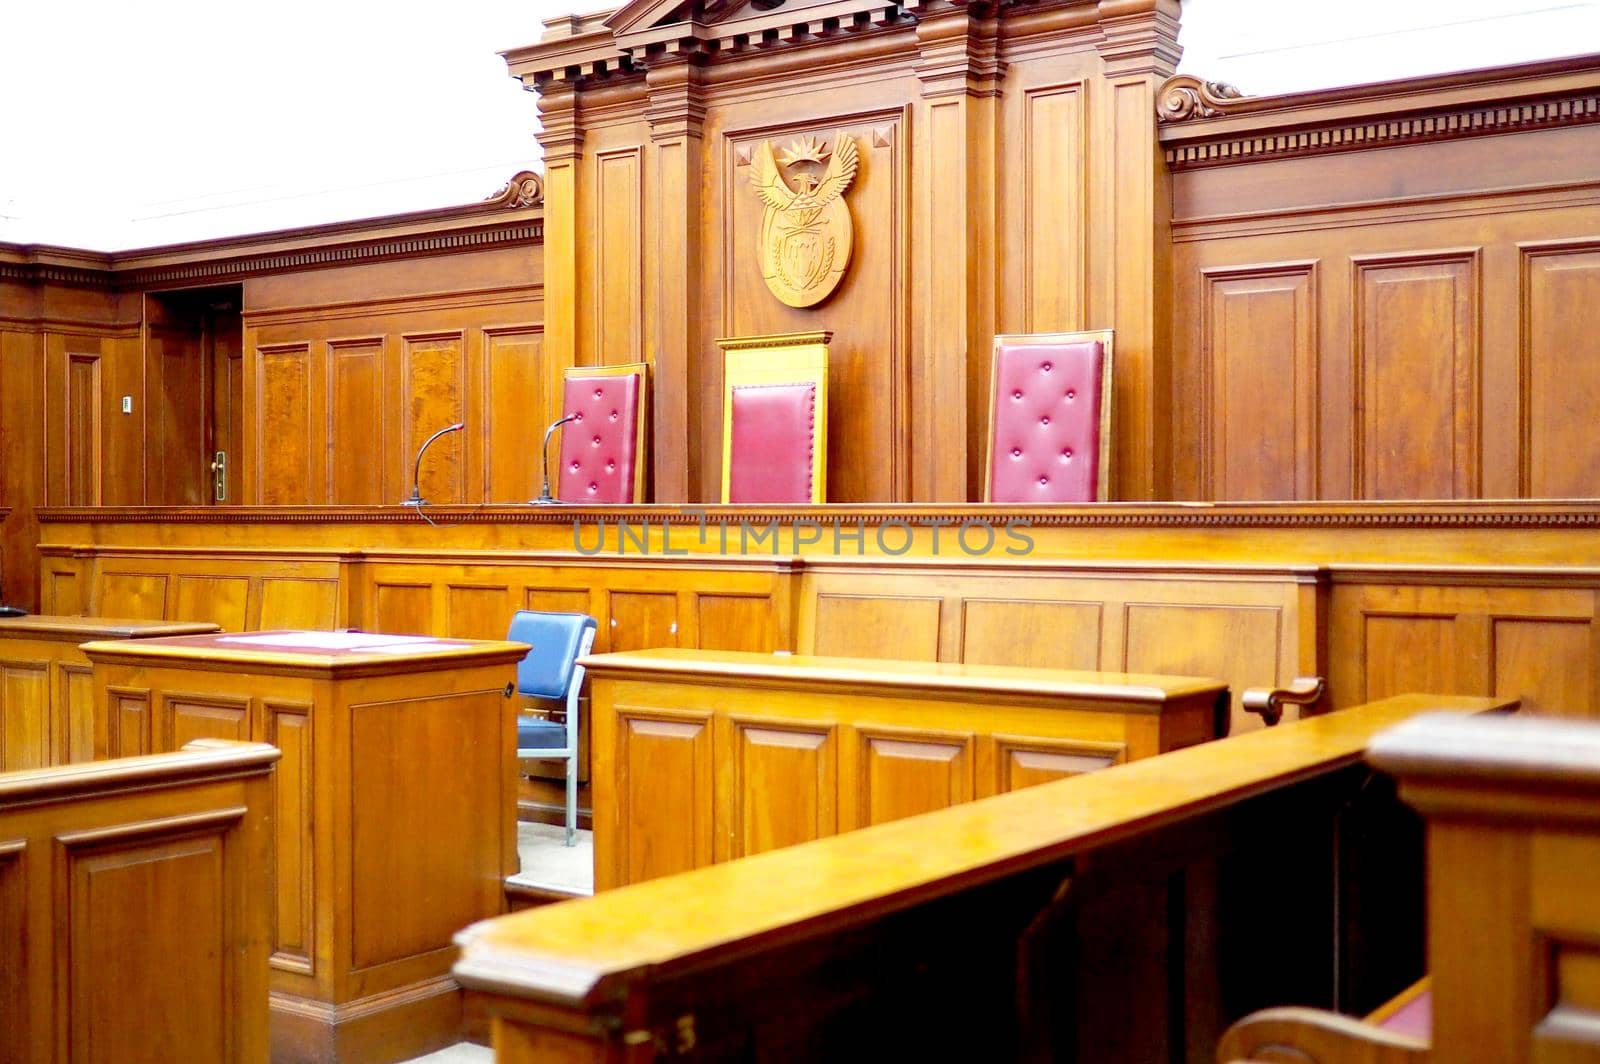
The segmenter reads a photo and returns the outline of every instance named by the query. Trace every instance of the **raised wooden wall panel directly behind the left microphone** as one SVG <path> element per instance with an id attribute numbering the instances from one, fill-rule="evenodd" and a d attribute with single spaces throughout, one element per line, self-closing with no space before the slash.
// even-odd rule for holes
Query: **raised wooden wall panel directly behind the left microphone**
<path id="1" fill-rule="evenodd" d="M 462 333 L 403 336 L 400 346 L 400 406 L 405 454 L 440 429 L 466 418 L 466 344 Z M 429 502 L 466 502 L 466 462 L 461 437 L 443 437 L 422 459 L 422 498 Z M 406 470 L 410 472 L 410 470 Z"/>

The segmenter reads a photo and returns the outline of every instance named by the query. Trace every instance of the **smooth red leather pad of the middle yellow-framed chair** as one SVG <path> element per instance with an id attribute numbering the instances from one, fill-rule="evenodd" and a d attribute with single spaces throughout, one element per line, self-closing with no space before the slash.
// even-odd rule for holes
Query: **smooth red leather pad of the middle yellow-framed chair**
<path id="1" fill-rule="evenodd" d="M 733 387 L 728 502 L 810 502 L 816 382 Z"/>

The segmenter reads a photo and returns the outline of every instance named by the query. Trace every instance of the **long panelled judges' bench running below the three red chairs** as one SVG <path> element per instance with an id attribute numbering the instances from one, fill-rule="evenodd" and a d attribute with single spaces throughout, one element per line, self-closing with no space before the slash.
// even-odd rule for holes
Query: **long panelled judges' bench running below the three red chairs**
<path id="1" fill-rule="evenodd" d="M 1261 723 L 1245 688 L 1301 675 L 1330 682 L 1314 710 L 1440 690 L 1600 712 L 1592 502 L 440 507 L 435 523 L 46 510 L 46 608 L 466 638 L 518 608 L 582 610 L 600 653 L 1216 677 L 1234 731 Z"/>

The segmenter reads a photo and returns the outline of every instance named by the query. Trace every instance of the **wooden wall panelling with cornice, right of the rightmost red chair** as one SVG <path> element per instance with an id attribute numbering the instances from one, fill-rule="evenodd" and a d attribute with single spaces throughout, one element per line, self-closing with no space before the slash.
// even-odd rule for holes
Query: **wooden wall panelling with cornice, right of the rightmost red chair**
<path id="1" fill-rule="evenodd" d="M 1594 58 L 1259 99 L 1176 78 L 1173 498 L 1592 496 L 1597 86 Z"/>

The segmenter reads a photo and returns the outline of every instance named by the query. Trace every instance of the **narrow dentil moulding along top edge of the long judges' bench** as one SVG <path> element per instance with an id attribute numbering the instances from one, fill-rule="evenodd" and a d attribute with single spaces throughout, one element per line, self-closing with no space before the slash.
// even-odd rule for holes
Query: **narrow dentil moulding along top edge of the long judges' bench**
<path id="1" fill-rule="evenodd" d="M 1381 528 L 1381 530 L 1533 530 L 1600 528 L 1600 502 L 1539 501 L 1528 504 L 1296 504 L 1229 506 L 1192 502 L 1107 502 L 1098 506 L 795 506 L 795 507 L 690 507 L 661 506 L 434 506 L 438 525 L 571 525 L 630 522 L 696 525 L 699 522 L 845 522 L 877 526 L 960 525 L 963 520 L 1005 522 L 1029 528 Z M 371 507 L 42 507 L 42 525 L 421 525 L 414 509 Z"/>

